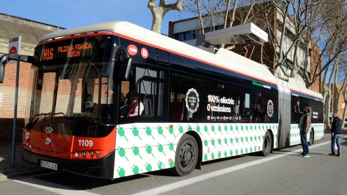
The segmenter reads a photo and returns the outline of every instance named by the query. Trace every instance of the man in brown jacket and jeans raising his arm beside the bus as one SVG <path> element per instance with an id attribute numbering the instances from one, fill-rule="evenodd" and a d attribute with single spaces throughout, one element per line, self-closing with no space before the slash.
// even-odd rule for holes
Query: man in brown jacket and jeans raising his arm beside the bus
<path id="1" fill-rule="evenodd" d="M 303 146 L 303 152 L 299 154 L 299 156 L 310 157 L 310 153 L 308 150 L 308 143 L 307 143 L 307 132 L 310 131 L 310 127 L 311 127 L 311 108 L 306 107 L 304 109 L 304 112 L 300 112 L 299 102 L 297 102 L 296 105 L 297 105 L 296 112 L 300 116 L 299 129 L 300 129 L 301 145 Z"/>

